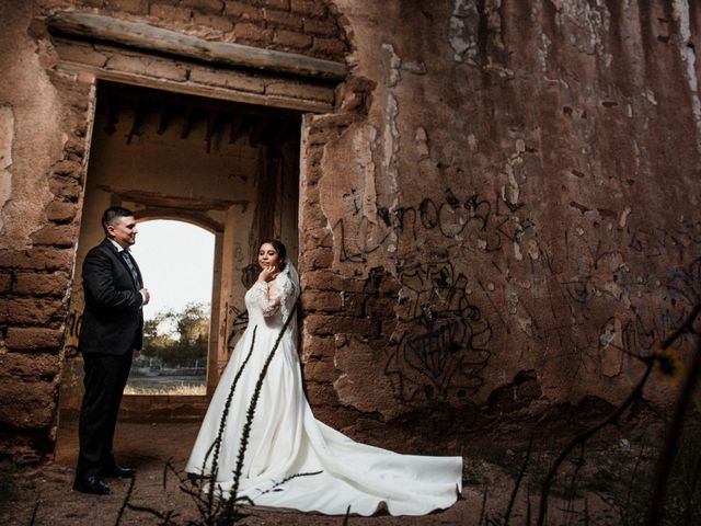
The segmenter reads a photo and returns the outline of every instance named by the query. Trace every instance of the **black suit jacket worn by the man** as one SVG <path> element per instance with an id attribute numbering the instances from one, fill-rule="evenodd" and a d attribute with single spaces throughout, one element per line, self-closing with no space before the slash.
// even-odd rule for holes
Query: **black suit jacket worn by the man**
<path id="1" fill-rule="evenodd" d="M 140 271 L 137 267 L 139 279 Z M 78 348 L 81 353 L 122 355 L 140 350 L 143 340 L 143 298 L 124 256 L 105 239 L 83 262 L 85 308 Z"/>

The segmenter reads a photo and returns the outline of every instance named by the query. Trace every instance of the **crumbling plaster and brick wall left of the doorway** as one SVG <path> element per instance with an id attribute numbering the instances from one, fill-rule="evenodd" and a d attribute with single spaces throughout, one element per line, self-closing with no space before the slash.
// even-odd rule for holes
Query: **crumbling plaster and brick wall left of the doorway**
<path id="1" fill-rule="evenodd" d="M 50 69 L 30 2 L 1 2 L 0 15 L 8 22 L 0 36 L 0 443 L 32 460 L 55 439 L 92 85 Z"/>

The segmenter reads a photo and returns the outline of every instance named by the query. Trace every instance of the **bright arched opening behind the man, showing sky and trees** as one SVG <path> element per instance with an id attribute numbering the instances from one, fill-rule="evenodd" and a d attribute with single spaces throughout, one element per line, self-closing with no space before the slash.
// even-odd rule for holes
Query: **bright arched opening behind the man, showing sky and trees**
<path id="1" fill-rule="evenodd" d="M 151 300 L 125 395 L 205 395 L 215 236 L 169 219 L 137 228 L 131 252 Z"/>

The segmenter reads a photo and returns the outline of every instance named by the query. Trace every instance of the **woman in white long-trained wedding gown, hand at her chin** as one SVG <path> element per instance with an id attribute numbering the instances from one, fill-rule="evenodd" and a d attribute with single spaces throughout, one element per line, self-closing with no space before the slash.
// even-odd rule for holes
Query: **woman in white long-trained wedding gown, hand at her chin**
<path id="1" fill-rule="evenodd" d="M 303 512 L 337 515 L 350 506 L 371 515 L 386 506 L 392 515 L 423 515 L 452 505 L 462 488 L 461 457 L 400 455 L 314 419 L 297 355 L 297 271 L 277 240 L 261 244 L 257 261 L 261 274 L 245 294 L 249 325 L 185 470 L 210 477 L 222 495 Z"/>

